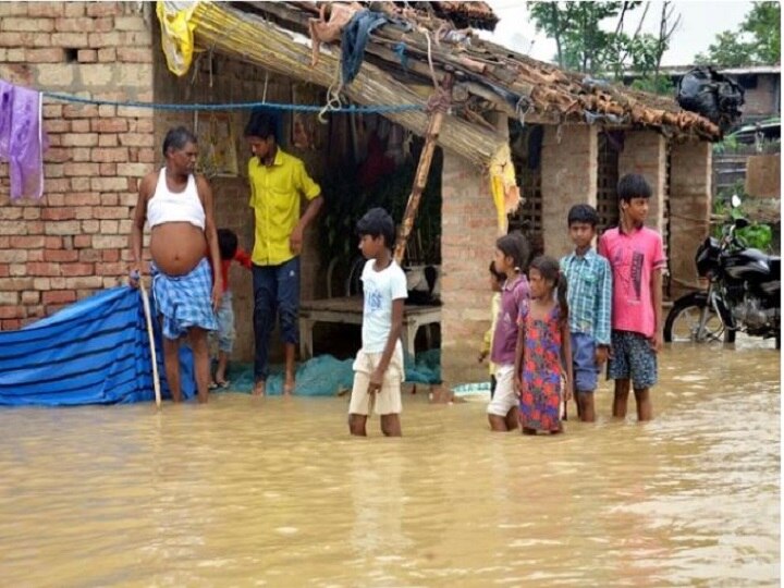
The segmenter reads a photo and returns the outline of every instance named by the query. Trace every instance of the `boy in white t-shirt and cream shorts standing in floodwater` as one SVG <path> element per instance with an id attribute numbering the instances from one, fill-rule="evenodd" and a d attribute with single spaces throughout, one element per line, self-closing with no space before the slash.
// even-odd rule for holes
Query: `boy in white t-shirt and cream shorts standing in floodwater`
<path id="1" fill-rule="evenodd" d="M 363 346 L 354 360 L 354 389 L 348 406 L 348 430 L 366 437 L 370 405 L 381 417 L 387 437 L 401 436 L 403 383 L 403 301 L 406 278 L 392 258 L 395 226 L 383 208 L 372 208 L 357 222 L 359 249 L 367 259 L 362 281 L 365 292 Z"/>

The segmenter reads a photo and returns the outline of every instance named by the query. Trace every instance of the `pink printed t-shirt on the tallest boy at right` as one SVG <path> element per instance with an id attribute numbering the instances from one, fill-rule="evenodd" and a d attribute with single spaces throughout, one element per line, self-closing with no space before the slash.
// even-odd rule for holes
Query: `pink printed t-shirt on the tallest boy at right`
<path id="1" fill-rule="evenodd" d="M 612 268 L 612 328 L 653 336 L 651 274 L 666 264 L 661 235 L 646 226 L 628 234 L 616 226 L 599 238 L 599 254 Z"/>

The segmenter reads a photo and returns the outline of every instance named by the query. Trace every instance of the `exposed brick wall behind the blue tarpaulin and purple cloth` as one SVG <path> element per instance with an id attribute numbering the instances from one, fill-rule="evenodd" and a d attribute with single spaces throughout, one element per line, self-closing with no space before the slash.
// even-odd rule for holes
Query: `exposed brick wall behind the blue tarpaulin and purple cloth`
<path id="1" fill-rule="evenodd" d="M 135 2 L 0 2 L 0 78 L 108 100 L 152 98 Z M 126 273 L 131 210 L 154 160 L 148 110 L 45 99 L 41 200 L 9 199 L 0 163 L 0 328 L 16 329 Z"/>

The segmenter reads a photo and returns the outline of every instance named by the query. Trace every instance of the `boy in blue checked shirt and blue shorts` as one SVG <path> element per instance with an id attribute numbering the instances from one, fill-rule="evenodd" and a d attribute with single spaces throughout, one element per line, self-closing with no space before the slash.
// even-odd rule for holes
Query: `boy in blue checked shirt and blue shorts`
<path id="1" fill-rule="evenodd" d="M 610 352 L 612 272 L 610 264 L 591 246 L 599 215 L 587 204 L 572 207 L 567 217 L 575 250 L 561 259 L 568 283 L 569 332 L 577 415 L 593 422 L 593 392 Z"/>

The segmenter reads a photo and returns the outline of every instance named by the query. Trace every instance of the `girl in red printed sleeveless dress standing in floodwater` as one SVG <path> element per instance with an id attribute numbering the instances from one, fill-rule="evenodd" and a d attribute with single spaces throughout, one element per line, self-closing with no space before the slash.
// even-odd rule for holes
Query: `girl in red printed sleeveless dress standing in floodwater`
<path id="1" fill-rule="evenodd" d="M 547 256 L 531 261 L 528 278 L 531 301 L 520 314 L 515 358 L 515 375 L 519 375 L 516 376 L 519 421 L 523 434 L 559 433 L 563 431 L 561 395 L 564 400 L 572 396 L 566 278 L 561 273 L 559 262 Z M 566 366 L 563 391 L 562 366 Z"/>

